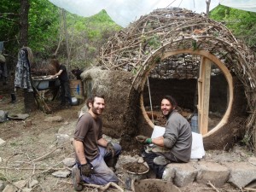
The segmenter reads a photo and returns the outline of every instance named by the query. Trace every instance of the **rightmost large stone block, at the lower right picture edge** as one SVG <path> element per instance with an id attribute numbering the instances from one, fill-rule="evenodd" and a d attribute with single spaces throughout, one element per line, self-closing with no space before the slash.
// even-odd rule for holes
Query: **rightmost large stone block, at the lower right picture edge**
<path id="1" fill-rule="evenodd" d="M 225 164 L 230 169 L 229 182 L 238 188 L 245 187 L 248 183 L 256 180 L 256 166 L 247 162 L 234 162 Z"/>

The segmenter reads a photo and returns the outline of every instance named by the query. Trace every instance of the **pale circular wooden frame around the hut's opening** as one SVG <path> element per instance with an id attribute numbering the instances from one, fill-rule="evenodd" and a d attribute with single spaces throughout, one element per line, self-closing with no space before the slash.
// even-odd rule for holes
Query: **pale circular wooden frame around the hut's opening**
<path id="1" fill-rule="evenodd" d="M 201 55 L 201 56 L 206 57 L 208 60 L 212 61 L 214 64 L 216 64 L 219 67 L 219 69 L 224 73 L 224 77 L 225 77 L 225 79 L 228 82 L 228 85 L 229 85 L 229 102 L 228 102 L 228 107 L 226 109 L 226 112 L 224 113 L 223 118 L 218 122 L 218 125 L 216 125 L 211 131 L 208 131 L 206 134 L 203 135 L 203 137 L 209 137 L 210 135 L 212 135 L 213 132 L 218 131 L 221 127 L 223 127 L 227 123 L 227 120 L 229 119 L 230 112 L 231 112 L 231 107 L 232 107 L 232 103 L 233 103 L 233 98 L 234 98 L 234 92 L 233 92 L 234 87 L 233 87 L 232 75 L 231 75 L 229 69 L 227 67 L 225 67 L 225 65 L 224 65 L 224 63 L 222 61 L 218 60 L 218 58 L 216 56 L 210 54 L 206 50 L 196 50 L 196 51 L 194 51 L 192 49 L 176 50 L 176 51 L 166 52 L 161 57 L 161 59 L 163 60 L 163 59 L 165 59 L 167 57 L 170 57 L 172 55 L 179 55 L 179 54 L 192 54 L 192 55 Z M 154 65 L 152 67 L 154 67 Z M 144 77 L 144 84 L 146 82 L 148 73 Z M 143 117 L 146 119 L 148 125 L 150 125 L 152 128 L 154 128 L 154 124 L 148 118 L 148 115 L 147 115 L 146 110 L 144 108 L 144 104 L 143 104 L 143 91 L 142 91 L 142 93 L 140 95 L 140 105 L 141 105 L 141 109 L 142 109 L 142 112 L 143 112 Z"/>

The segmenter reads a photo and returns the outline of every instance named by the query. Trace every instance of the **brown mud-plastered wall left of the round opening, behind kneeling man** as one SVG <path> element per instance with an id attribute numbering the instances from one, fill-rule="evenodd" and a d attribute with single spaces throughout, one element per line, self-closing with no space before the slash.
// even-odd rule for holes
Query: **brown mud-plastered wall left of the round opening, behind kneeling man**
<path id="1" fill-rule="evenodd" d="M 110 137 L 121 137 L 127 129 L 125 115 L 134 116 L 127 114 L 125 110 L 128 106 L 131 76 L 131 73 L 124 71 L 101 70 L 96 67 L 81 74 L 85 88 L 84 96 L 93 93 L 102 93 L 105 96 L 106 108 L 102 113 L 103 133 Z"/>

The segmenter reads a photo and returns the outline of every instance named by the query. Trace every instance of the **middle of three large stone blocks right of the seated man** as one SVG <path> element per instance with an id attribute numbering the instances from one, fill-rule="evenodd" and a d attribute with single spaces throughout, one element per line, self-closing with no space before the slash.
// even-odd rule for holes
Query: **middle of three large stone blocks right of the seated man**
<path id="1" fill-rule="evenodd" d="M 211 182 L 216 187 L 221 187 L 229 180 L 230 171 L 226 166 L 221 166 L 214 162 L 199 162 L 197 183 Z"/>

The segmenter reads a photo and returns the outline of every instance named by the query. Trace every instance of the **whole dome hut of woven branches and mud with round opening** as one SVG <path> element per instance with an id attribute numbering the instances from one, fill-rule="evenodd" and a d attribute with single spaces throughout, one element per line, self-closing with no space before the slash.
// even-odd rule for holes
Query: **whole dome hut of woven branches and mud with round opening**
<path id="1" fill-rule="evenodd" d="M 255 138 L 255 63 L 223 24 L 167 8 L 109 38 L 98 68 L 82 77 L 85 90 L 108 95 L 105 132 L 130 148 L 137 134 L 150 136 L 154 125 L 165 124 L 160 100 L 172 95 L 183 116 L 195 120 L 206 149 L 228 149 L 237 139 Z"/>

